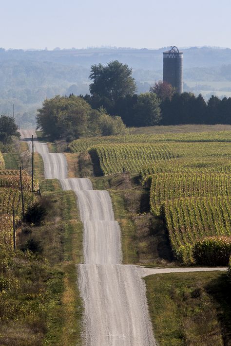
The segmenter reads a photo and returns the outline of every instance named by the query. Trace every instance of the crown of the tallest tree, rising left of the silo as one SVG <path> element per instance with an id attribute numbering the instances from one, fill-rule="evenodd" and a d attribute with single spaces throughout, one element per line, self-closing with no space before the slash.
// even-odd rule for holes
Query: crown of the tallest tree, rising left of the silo
<path id="1" fill-rule="evenodd" d="M 107 66 L 92 65 L 89 78 L 93 80 L 90 84 L 91 94 L 108 100 L 111 105 L 115 105 L 120 97 L 134 94 L 136 89 L 132 69 L 118 60 L 109 62 Z"/>

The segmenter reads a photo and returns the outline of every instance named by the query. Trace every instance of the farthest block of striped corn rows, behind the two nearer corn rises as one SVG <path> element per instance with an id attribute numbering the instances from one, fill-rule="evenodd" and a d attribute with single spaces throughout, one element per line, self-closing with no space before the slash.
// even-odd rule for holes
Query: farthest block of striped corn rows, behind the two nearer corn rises
<path id="1" fill-rule="evenodd" d="M 137 139 L 138 141 L 138 139 Z M 154 143 L 126 143 L 126 144 L 104 144 L 96 145 L 89 149 L 93 158 L 103 175 L 128 172 L 150 174 L 158 166 L 168 165 L 171 159 L 179 159 L 182 167 L 187 163 L 205 164 L 209 161 L 211 170 L 217 165 L 223 166 L 222 170 L 230 169 L 231 145 L 226 142 L 157 142 Z M 184 162 L 184 160 L 186 162 Z M 219 164 L 223 160 L 227 164 Z M 178 161 L 175 161 L 178 165 Z M 178 165 L 179 166 L 179 165 Z M 149 168 L 150 167 L 150 168 Z M 213 167 L 213 168 L 212 168 Z M 226 168 L 227 167 L 227 168 Z"/>

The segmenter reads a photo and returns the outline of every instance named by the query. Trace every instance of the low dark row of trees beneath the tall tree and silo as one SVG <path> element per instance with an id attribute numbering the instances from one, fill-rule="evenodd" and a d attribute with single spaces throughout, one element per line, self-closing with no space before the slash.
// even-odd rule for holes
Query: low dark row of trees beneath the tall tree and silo
<path id="1" fill-rule="evenodd" d="M 111 115 L 121 116 L 128 127 L 179 124 L 231 124 L 231 97 L 222 100 L 211 96 L 205 102 L 200 94 L 191 92 L 173 94 L 173 97 L 162 99 L 154 92 L 139 95 L 126 95 L 110 105 L 97 96 L 85 95 L 84 99 L 93 108 L 103 106 Z"/>

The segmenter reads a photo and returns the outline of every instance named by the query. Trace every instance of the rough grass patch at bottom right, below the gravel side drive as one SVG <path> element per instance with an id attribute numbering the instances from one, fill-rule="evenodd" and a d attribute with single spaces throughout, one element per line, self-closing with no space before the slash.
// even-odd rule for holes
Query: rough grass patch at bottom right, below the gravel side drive
<path id="1" fill-rule="evenodd" d="M 227 274 L 155 274 L 144 280 L 159 346 L 231 345 Z"/>

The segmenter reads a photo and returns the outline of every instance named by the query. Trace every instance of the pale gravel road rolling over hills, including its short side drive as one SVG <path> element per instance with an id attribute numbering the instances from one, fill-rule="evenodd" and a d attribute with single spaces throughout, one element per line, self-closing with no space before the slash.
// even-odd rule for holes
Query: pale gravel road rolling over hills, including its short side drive
<path id="1" fill-rule="evenodd" d="M 64 154 L 49 153 L 33 130 L 21 138 L 35 138 L 35 151 L 44 162 L 44 176 L 57 178 L 63 190 L 77 195 L 84 226 L 84 264 L 78 265 L 78 284 L 85 307 L 86 346 L 156 345 L 148 314 L 143 276 L 155 273 L 209 271 L 214 268 L 154 268 L 122 265 L 120 228 L 107 191 L 93 190 L 87 178 L 67 178 Z M 224 268 L 215 268 L 224 270 Z"/>

